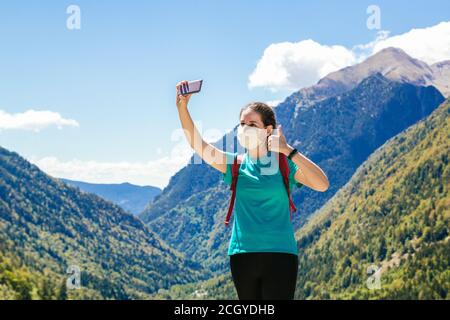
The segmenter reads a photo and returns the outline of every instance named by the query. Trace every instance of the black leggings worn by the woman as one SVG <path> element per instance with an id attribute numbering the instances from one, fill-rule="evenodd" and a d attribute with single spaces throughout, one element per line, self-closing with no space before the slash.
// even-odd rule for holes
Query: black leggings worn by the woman
<path id="1" fill-rule="evenodd" d="M 239 300 L 294 299 L 298 256 L 284 252 L 230 255 L 230 269 Z"/>

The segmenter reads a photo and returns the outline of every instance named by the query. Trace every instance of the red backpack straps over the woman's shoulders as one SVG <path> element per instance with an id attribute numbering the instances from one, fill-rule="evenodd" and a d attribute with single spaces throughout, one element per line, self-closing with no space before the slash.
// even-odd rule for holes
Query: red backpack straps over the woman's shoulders
<path id="1" fill-rule="evenodd" d="M 278 164 L 279 164 L 281 175 L 283 177 L 284 186 L 286 188 L 288 198 L 289 198 L 289 212 L 290 212 L 290 219 L 292 222 L 292 212 L 297 211 L 297 208 L 295 207 L 294 202 L 292 201 L 291 193 L 289 190 L 289 165 L 288 165 L 288 162 L 286 159 L 286 155 L 284 153 L 278 153 L 278 154 L 279 154 Z M 239 176 L 239 168 L 241 166 L 242 159 L 243 159 L 242 154 L 236 155 L 234 157 L 233 165 L 231 166 L 232 181 L 231 181 L 230 190 L 231 190 L 232 194 L 231 194 L 230 206 L 229 206 L 228 212 L 227 212 L 227 217 L 225 219 L 225 225 L 227 227 L 230 223 L 231 213 L 233 212 L 234 200 L 236 198 L 237 179 Z"/>

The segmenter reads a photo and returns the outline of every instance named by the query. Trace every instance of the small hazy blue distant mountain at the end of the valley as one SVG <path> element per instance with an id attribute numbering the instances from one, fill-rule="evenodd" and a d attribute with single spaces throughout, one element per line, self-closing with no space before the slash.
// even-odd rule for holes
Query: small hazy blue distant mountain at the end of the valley
<path id="1" fill-rule="evenodd" d="M 130 183 L 121 184 L 97 184 L 68 179 L 61 181 L 80 188 L 82 191 L 95 193 L 96 195 L 114 202 L 134 215 L 141 213 L 149 199 L 150 201 L 161 193 L 161 189 L 152 186 L 136 186 Z"/>

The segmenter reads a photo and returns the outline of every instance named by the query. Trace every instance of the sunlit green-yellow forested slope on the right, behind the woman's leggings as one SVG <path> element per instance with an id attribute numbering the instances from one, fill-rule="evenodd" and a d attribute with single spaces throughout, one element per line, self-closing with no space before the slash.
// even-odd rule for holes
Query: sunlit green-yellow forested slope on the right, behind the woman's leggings
<path id="1" fill-rule="evenodd" d="M 297 232 L 295 298 L 450 299 L 449 155 L 450 99 L 378 148 Z M 237 295 L 227 273 L 155 298 Z"/>

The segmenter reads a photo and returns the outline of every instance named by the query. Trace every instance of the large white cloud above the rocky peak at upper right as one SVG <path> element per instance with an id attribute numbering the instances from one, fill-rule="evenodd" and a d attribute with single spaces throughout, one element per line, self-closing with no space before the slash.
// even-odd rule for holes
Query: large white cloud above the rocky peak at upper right
<path id="1" fill-rule="evenodd" d="M 248 86 L 265 87 L 272 91 L 298 90 L 387 47 L 401 48 L 410 56 L 429 64 L 448 60 L 450 21 L 392 37 L 389 37 L 388 31 L 381 31 L 374 41 L 353 48 L 322 45 L 311 39 L 271 44 L 250 74 Z"/>

